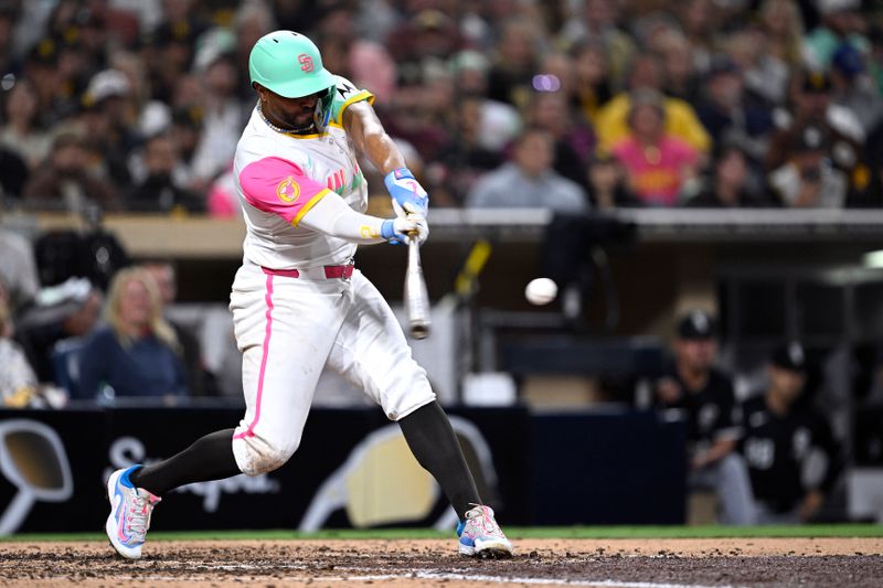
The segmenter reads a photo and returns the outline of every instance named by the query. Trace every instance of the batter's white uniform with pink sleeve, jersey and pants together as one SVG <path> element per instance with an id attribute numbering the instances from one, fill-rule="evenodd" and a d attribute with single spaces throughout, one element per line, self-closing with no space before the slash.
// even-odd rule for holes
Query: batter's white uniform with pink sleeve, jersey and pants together
<path id="1" fill-rule="evenodd" d="M 342 119 L 347 107 L 373 96 L 336 79 L 323 132 L 280 131 L 255 108 L 236 148 L 247 233 L 230 309 L 243 353 L 246 411 L 233 453 L 247 474 L 273 470 L 295 452 L 326 366 L 364 389 L 392 420 L 435 399 L 390 306 L 353 269 L 357 243 L 383 240 L 376 227 L 343 239 L 309 226 L 310 212 L 332 193 L 359 213 L 368 207 Z"/>

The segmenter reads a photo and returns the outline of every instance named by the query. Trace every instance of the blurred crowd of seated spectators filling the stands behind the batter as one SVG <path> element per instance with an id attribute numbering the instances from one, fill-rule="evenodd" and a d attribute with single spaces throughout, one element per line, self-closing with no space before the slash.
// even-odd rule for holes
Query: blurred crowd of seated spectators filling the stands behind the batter
<path id="1" fill-rule="evenodd" d="M 1 0 L 2 206 L 235 215 L 248 52 L 275 29 L 376 96 L 433 206 L 879 206 L 864 4 Z"/>

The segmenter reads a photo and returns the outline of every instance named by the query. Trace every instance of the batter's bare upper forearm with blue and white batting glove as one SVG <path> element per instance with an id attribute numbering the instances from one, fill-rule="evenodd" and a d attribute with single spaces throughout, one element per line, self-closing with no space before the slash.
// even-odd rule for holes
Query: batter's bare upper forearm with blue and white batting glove
<path id="1" fill-rule="evenodd" d="M 368 101 L 351 104 L 343 111 L 343 128 L 360 154 L 383 173 L 383 182 L 400 216 L 405 213 L 426 215 L 429 197 L 405 165 L 402 151 L 386 133 L 374 107 Z"/>

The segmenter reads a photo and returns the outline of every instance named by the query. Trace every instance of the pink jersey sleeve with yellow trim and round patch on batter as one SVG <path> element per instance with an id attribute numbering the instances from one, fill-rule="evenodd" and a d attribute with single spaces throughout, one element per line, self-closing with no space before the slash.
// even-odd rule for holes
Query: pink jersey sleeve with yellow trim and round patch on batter
<path id="1" fill-rule="evenodd" d="M 245 201 L 259 211 L 297 225 L 328 189 L 308 178 L 297 164 L 281 158 L 264 158 L 240 172 Z"/>

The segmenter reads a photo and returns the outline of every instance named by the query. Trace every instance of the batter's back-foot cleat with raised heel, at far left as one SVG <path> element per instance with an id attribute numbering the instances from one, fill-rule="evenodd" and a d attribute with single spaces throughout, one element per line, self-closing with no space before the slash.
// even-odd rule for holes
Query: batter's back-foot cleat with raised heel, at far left
<path id="1" fill-rule="evenodd" d="M 107 479 L 110 515 L 104 528 L 110 545 L 127 559 L 141 557 L 141 545 L 150 528 L 150 513 L 161 500 L 129 481 L 129 473 L 138 468 L 140 466 L 117 470 Z"/>

